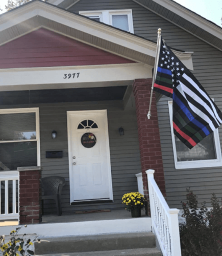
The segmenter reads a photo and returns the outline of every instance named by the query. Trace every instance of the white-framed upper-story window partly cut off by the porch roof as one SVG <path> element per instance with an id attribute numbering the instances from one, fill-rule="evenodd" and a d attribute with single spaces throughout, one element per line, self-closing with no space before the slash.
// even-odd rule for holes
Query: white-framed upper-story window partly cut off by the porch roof
<path id="1" fill-rule="evenodd" d="M 132 10 L 82 11 L 80 14 L 115 28 L 134 33 Z"/>

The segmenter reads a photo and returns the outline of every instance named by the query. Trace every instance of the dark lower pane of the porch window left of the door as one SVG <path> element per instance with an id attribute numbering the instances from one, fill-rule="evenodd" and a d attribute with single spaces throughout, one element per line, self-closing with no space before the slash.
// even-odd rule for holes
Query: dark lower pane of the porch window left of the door
<path id="1" fill-rule="evenodd" d="M 37 142 L 0 143 L 1 170 L 17 170 L 17 167 L 37 166 Z"/>

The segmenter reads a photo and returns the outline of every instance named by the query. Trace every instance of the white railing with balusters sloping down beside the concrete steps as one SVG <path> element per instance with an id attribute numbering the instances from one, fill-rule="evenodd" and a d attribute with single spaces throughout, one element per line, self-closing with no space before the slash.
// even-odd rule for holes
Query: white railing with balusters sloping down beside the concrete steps
<path id="1" fill-rule="evenodd" d="M 181 256 L 178 209 L 170 209 L 156 181 L 154 170 L 146 170 L 153 232 L 163 256 Z"/>

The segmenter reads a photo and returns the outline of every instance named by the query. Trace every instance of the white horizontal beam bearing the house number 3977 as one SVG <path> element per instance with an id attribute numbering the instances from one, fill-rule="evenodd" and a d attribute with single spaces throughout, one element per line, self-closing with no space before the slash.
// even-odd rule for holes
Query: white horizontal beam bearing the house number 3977
<path id="1" fill-rule="evenodd" d="M 64 79 L 65 74 L 67 78 Z M 68 78 L 68 74 L 71 77 Z M 73 74 L 76 74 L 73 78 Z M 79 74 L 79 76 L 78 76 Z M 141 63 L 101 65 L 101 66 L 72 66 L 55 68 L 27 68 L 0 70 L 0 91 L 38 90 L 44 89 L 41 85 L 54 85 L 60 88 L 82 88 L 84 84 L 112 83 L 134 79 L 152 78 L 152 67 Z M 116 85 L 116 83 L 114 84 Z M 121 84 L 122 85 L 122 84 Z M 129 84 L 126 84 L 129 85 Z M 47 87 L 46 87 L 47 88 Z"/>

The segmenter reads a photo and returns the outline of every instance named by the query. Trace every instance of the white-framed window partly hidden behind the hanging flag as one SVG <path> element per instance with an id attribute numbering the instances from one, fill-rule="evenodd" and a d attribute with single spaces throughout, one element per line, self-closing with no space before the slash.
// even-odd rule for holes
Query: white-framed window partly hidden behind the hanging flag
<path id="1" fill-rule="evenodd" d="M 222 166 L 218 129 L 196 144 L 191 150 L 174 135 L 172 101 L 168 101 L 172 148 L 176 169 Z"/>

